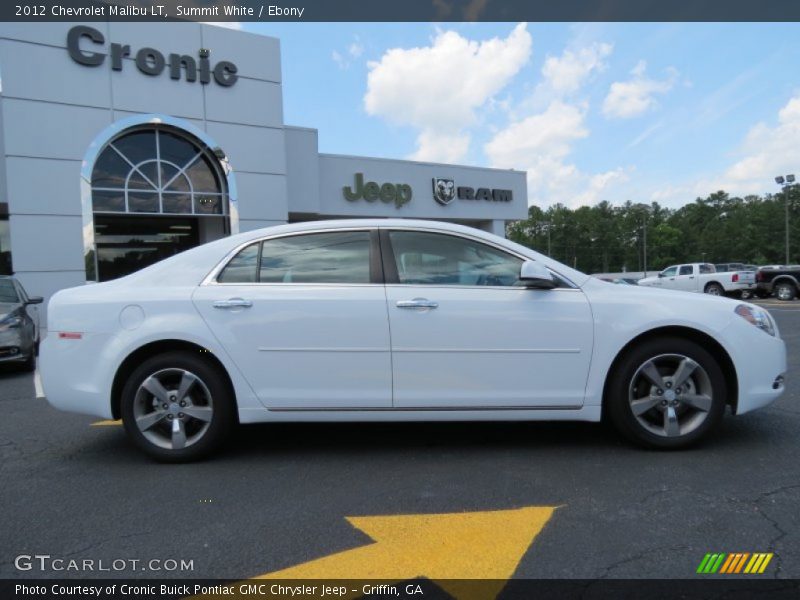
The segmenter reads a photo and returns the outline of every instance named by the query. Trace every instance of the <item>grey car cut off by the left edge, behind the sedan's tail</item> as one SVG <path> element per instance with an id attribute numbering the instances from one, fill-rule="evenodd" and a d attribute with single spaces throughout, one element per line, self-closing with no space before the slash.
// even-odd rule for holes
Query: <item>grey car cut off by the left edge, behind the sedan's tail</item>
<path id="1" fill-rule="evenodd" d="M 0 277 L 0 364 L 21 364 L 27 370 L 36 366 L 39 349 L 39 313 L 28 311 L 41 304 L 39 296 L 28 296 L 19 281 Z"/>

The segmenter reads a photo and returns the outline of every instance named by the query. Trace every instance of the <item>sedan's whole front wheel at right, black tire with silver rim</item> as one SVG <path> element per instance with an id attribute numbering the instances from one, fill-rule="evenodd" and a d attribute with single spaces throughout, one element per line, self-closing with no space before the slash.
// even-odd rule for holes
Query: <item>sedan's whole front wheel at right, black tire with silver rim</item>
<path id="1" fill-rule="evenodd" d="M 689 370 L 686 377 L 681 369 Z M 696 444 L 719 425 L 725 412 L 728 389 L 719 363 L 684 338 L 643 342 L 622 357 L 609 377 L 604 407 L 611 423 L 647 448 L 677 450 Z M 673 388 L 676 377 L 683 381 Z"/>

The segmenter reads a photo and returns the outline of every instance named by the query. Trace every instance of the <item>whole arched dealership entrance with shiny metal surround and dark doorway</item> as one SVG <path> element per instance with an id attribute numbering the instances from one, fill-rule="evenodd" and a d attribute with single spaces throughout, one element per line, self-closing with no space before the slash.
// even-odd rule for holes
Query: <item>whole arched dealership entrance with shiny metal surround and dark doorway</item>
<path id="1" fill-rule="evenodd" d="M 168 119 L 120 121 L 89 148 L 81 171 L 89 281 L 122 277 L 238 230 L 222 150 Z"/>

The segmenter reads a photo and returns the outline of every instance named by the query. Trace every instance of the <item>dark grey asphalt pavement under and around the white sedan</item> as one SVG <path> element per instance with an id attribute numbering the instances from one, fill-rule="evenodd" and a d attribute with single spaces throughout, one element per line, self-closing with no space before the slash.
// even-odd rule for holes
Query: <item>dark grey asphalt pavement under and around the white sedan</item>
<path id="1" fill-rule="evenodd" d="M 214 460 L 160 465 L 121 427 L 56 411 L 36 398 L 30 374 L 5 369 L 0 577 L 239 579 L 324 566 L 323 557 L 347 564 L 349 551 L 371 543 L 374 523 L 358 517 L 408 515 L 402 536 L 418 532 L 414 515 L 557 507 L 540 509 L 552 514 L 519 549 L 514 577 L 686 578 L 709 552 L 774 552 L 763 577 L 798 578 L 800 302 L 761 304 L 788 345 L 786 393 L 728 416 L 707 444 L 672 453 L 640 450 L 594 424 L 281 424 L 241 428 Z M 498 545 L 522 513 L 507 514 L 508 528 L 490 524 Z M 453 553 L 472 543 L 458 527 L 430 531 Z M 106 565 L 183 559 L 193 571 L 15 564 L 34 554 Z"/>

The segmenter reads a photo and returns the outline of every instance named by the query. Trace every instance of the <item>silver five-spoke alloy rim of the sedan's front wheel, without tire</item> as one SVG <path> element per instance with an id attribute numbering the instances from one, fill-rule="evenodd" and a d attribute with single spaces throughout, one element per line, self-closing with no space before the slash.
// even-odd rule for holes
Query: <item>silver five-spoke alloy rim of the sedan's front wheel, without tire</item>
<path id="1" fill-rule="evenodd" d="M 700 427 L 713 404 L 711 378 L 683 354 L 661 354 L 644 362 L 628 390 L 631 412 L 647 431 L 662 437 Z"/>

